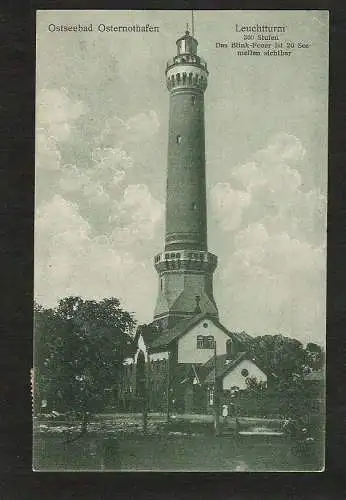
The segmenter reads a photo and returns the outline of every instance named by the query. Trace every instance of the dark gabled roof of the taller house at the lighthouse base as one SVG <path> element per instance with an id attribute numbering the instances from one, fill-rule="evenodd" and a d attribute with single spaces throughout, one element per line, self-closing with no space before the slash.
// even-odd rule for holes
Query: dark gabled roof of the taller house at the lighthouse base
<path id="1" fill-rule="evenodd" d="M 210 321 L 212 321 L 215 326 L 220 328 L 226 335 L 228 335 L 232 340 L 235 340 L 236 342 L 246 344 L 251 339 L 250 335 L 247 335 L 245 332 L 230 332 L 220 323 L 218 319 L 213 317 L 210 313 L 202 313 L 196 314 L 192 318 L 183 319 L 179 321 L 179 323 L 177 323 L 173 328 L 165 330 L 161 335 L 153 340 L 150 345 L 150 350 L 158 351 L 167 348 L 174 340 L 183 336 L 203 319 L 209 319 Z"/>

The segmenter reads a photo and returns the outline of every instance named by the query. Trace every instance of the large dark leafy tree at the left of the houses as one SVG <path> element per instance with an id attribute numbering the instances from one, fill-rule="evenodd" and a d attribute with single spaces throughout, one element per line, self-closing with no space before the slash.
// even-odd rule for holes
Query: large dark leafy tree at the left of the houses
<path id="1" fill-rule="evenodd" d="M 116 386 L 134 326 L 115 298 L 67 297 L 56 309 L 36 306 L 37 392 L 44 391 L 58 411 L 78 417 L 82 433 L 107 404 L 105 389 Z"/>

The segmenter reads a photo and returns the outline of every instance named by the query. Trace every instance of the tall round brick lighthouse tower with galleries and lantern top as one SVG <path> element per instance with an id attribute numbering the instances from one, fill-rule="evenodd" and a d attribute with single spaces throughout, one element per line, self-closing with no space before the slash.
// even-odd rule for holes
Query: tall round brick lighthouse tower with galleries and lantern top
<path id="1" fill-rule="evenodd" d="M 208 252 L 205 182 L 204 92 L 206 62 L 189 31 L 167 62 L 170 93 L 164 252 L 154 258 L 159 275 L 154 321 L 171 328 L 198 313 L 218 317 L 213 297 L 217 257 Z"/>

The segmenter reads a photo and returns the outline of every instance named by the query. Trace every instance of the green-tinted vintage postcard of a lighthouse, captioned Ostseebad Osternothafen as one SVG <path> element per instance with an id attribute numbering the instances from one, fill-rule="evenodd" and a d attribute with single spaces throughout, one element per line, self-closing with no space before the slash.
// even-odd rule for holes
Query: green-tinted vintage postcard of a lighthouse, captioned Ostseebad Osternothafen
<path id="1" fill-rule="evenodd" d="M 35 471 L 323 471 L 327 11 L 37 12 Z"/>

